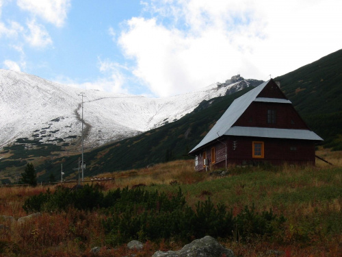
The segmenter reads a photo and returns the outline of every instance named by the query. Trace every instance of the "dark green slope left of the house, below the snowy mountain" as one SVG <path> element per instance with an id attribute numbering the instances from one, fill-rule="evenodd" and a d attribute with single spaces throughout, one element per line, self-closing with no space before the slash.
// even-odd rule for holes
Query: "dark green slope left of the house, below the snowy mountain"
<path id="1" fill-rule="evenodd" d="M 180 158 L 192 158 L 187 156 L 191 147 L 209 131 L 236 97 L 250 89 L 252 88 L 204 101 L 194 112 L 185 115 L 179 121 L 86 152 L 84 154 L 84 160 L 88 164 L 86 175 L 147 167 L 151 164 Z M 45 163 L 37 167 L 37 170 L 42 173 L 42 180 L 48 180 L 51 173 L 57 178 L 60 173 L 59 164 L 63 163 L 63 167 L 67 167 L 68 178 L 75 178 L 76 173 L 72 171 L 72 168 L 77 167 L 78 158 L 79 156 L 69 156 L 57 158 L 53 162 L 49 160 L 47 161 L 49 169 L 46 169 L 47 163 Z M 44 173 L 44 171 L 47 172 Z"/>

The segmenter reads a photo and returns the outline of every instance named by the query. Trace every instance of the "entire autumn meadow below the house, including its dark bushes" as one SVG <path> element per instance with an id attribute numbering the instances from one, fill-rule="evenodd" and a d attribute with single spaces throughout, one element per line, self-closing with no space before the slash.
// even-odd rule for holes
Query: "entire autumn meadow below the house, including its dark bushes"
<path id="1" fill-rule="evenodd" d="M 0 256 L 91 256 L 96 246 L 98 256 L 152 256 L 207 234 L 235 256 L 339 256 L 342 154 L 319 155 L 336 166 L 231 168 L 219 177 L 175 161 L 78 191 L 1 187 Z M 133 239 L 141 251 L 127 248 Z"/>

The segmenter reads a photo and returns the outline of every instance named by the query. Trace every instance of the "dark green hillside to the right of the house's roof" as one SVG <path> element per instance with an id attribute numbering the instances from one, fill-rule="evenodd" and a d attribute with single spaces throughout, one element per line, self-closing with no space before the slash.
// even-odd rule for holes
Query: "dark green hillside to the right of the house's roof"
<path id="1" fill-rule="evenodd" d="M 342 49 L 275 80 L 324 145 L 342 150 Z"/>

